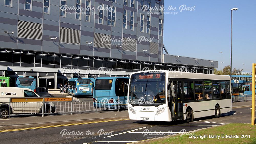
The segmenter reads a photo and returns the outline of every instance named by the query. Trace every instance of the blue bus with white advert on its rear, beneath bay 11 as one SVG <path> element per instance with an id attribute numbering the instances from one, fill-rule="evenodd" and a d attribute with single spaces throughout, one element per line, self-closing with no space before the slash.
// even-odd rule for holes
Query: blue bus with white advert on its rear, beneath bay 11
<path id="1" fill-rule="evenodd" d="M 67 93 L 72 96 L 93 96 L 95 78 L 71 78 L 67 82 Z"/>

